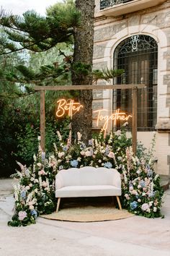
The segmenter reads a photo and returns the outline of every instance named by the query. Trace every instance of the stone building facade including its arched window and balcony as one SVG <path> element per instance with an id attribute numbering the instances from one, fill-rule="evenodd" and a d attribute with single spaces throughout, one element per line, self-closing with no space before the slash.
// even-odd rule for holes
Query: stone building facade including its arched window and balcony
<path id="1" fill-rule="evenodd" d="M 126 77 L 114 83 L 146 84 L 144 94 L 138 95 L 138 108 L 143 108 L 138 114 L 143 120 L 138 121 L 138 140 L 148 148 L 156 132 L 157 171 L 169 175 L 170 1 L 96 0 L 95 4 L 94 69 L 125 68 Z M 118 107 L 128 106 L 130 95 L 120 94 L 114 90 L 94 92 L 94 111 L 103 108 L 109 115 L 118 106 L 119 97 L 124 97 L 125 103 L 121 100 Z M 152 114 L 146 114 L 149 111 Z M 97 127 L 95 113 L 93 126 Z M 112 129 L 112 123 L 108 129 Z"/>

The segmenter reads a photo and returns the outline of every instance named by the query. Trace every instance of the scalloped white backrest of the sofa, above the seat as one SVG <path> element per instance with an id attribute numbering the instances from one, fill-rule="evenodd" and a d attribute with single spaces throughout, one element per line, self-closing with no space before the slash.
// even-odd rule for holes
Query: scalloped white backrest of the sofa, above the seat
<path id="1" fill-rule="evenodd" d="M 56 188 L 67 186 L 115 185 L 121 187 L 120 173 L 114 168 L 69 168 L 56 175 Z"/>

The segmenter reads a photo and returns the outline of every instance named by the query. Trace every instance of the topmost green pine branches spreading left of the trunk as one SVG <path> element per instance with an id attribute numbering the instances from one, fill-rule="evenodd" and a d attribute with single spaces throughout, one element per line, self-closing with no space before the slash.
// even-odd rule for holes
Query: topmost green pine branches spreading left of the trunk
<path id="1" fill-rule="evenodd" d="M 35 11 L 27 11 L 19 17 L 1 9 L 0 25 L 5 33 L 0 37 L 1 55 L 22 49 L 47 51 L 57 43 L 73 42 L 73 30 L 80 25 L 80 13 L 73 4 L 57 4 L 55 13 L 49 10 L 47 17 Z"/>

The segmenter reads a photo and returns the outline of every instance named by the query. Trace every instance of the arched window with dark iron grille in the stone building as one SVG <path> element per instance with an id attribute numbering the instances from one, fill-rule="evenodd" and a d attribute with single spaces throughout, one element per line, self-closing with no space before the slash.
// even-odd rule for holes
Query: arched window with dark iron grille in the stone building
<path id="1" fill-rule="evenodd" d="M 156 40 L 148 35 L 133 35 L 123 40 L 115 49 L 114 68 L 125 70 L 125 74 L 117 78 L 118 84 L 146 85 L 145 89 L 138 90 L 138 131 L 155 129 L 158 74 Z M 113 90 L 113 110 L 116 108 L 132 113 L 131 90 Z"/>

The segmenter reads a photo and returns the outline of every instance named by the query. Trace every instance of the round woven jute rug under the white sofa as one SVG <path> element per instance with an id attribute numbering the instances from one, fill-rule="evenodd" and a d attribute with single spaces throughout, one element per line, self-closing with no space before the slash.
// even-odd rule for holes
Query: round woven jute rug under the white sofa
<path id="1" fill-rule="evenodd" d="M 128 213 L 128 210 L 118 210 L 113 205 L 81 205 L 61 208 L 58 213 L 55 212 L 40 217 L 58 221 L 92 222 L 113 221 L 132 216 L 133 214 Z"/>

